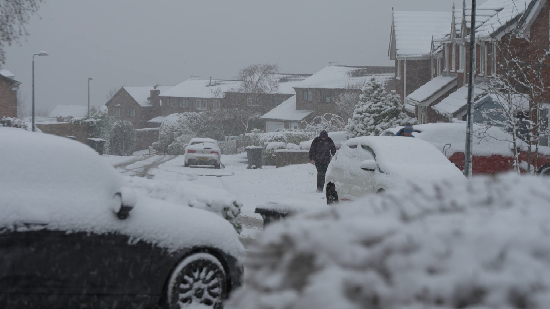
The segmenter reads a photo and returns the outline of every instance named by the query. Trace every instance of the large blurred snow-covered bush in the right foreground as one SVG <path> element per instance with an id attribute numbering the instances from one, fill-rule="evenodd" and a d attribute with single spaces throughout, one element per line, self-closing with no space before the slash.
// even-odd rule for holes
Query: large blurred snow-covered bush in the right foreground
<path id="1" fill-rule="evenodd" d="M 239 309 L 547 308 L 550 180 L 408 187 L 268 227 Z"/>

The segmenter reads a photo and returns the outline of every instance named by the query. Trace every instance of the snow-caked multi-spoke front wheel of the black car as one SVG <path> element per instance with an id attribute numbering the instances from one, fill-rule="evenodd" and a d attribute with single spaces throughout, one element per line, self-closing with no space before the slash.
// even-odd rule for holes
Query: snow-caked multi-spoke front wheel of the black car
<path id="1" fill-rule="evenodd" d="M 218 259 L 208 253 L 195 253 L 184 258 L 168 282 L 169 309 L 196 305 L 221 309 L 226 298 L 226 272 Z"/>

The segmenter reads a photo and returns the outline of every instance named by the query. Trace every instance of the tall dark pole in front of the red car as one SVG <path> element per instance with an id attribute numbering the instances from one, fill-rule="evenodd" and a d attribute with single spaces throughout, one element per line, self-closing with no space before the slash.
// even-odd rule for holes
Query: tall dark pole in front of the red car
<path id="1" fill-rule="evenodd" d="M 474 60 L 476 52 L 476 0 L 472 0 L 472 20 L 470 26 L 470 75 L 468 76 L 468 102 L 466 110 L 466 151 L 464 156 L 464 175 L 472 176 L 472 134 L 474 119 L 472 119 L 472 100 L 474 92 Z"/>

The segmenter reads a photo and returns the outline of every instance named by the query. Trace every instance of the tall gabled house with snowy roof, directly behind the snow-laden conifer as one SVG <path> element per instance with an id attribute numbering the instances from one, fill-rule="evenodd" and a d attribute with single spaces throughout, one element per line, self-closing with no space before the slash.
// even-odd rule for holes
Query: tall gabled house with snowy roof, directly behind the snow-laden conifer
<path id="1" fill-rule="evenodd" d="M 395 90 L 411 114 L 415 106 L 405 98 L 432 78 L 433 35 L 441 33 L 452 19 L 448 12 L 392 12 L 388 57 L 395 60 Z"/>

